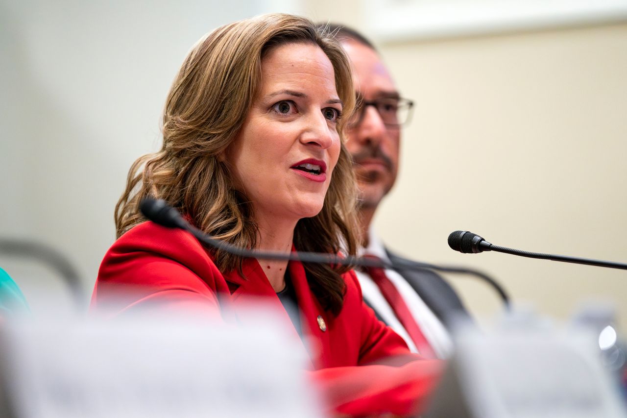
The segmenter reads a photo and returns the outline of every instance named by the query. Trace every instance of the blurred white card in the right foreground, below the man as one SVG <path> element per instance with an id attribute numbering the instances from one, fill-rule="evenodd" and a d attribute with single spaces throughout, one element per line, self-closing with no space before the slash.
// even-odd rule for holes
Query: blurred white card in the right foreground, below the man
<path id="1" fill-rule="evenodd" d="M 624 418 L 598 334 L 530 315 L 480 333 L 455 331 L 456 352 L 424 418 Z"/>

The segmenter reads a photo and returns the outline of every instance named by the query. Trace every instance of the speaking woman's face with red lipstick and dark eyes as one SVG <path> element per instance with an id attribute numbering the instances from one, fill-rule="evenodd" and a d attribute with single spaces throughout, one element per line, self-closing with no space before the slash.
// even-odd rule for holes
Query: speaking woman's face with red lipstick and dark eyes
<path id="1" fill-rule="evenodd" d="M 319 46 L 290 43 L 263 58 L 261 77 L 226 161 L 257 222 L 313 217 L 340 153 L 333 66 Z"/>

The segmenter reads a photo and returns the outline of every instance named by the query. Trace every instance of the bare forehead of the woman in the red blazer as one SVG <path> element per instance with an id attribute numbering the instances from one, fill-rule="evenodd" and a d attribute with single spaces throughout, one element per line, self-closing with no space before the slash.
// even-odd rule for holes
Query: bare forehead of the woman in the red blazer
<path id="1" fill-rule="evenodd" d="M 318 45 L 287 43 L 272 48 L 261 60 L 261 76 L 262 92 L 282 85 L 294 90 L 318 87 L 337 96 L 333 65 Z"/>

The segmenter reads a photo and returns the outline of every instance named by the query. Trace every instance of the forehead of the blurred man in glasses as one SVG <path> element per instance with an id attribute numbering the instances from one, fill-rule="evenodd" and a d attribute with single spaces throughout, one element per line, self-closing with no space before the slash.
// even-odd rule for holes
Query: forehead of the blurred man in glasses
<path id="1" fill-rule="evenodd" d="M 396 84 L 376 51 L 352 40 L 342 42 L 342 46 L 350 58 L 355 88 L 364 97 L 396 92 Z"/>

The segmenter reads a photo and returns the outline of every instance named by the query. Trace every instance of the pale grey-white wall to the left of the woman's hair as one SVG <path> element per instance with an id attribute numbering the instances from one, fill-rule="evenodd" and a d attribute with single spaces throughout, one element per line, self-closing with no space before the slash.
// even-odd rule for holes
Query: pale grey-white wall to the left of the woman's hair
<path id="1" fill-rule="evenodd" d="M 130 164 L 161 144 L 182 59 L 204 33 L 271 3 L 0 0 L 0 237 L 66 255 L 88 300 Z M 34 312 L 69 304 L 43 262 L 0 254 L 0 267 Z"/>

